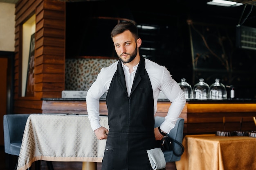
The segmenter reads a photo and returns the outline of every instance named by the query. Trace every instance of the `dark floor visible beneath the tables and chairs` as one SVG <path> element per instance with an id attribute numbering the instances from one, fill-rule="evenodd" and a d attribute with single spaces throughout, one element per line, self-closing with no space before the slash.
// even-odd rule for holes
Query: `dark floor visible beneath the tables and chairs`
<path id="1" fill-rule="evenodd" d="M 4 153 L 4 146 L 0 146 L 0 170 L 14 170 L 18 157 Z M 7 159 L 9 158 L 9 159 Z M 48 170 L 45 161 L 40 161 L 40 170 Z M 82 162 L 52 162 L 54 170 L 81 170 Z M 35 163 L 31 170 L 35 170 Z M 97 170 L 101 170 L 101 163 L 97 163 Z M 166 163 L 166 170 L 176 170 L 175 162 Z"/>

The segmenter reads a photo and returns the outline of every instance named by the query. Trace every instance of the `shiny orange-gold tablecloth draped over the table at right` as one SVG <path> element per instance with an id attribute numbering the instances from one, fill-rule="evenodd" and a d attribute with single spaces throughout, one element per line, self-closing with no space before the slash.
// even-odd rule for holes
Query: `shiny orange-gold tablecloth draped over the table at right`
<path id="1" fill-rule="evenodd" d="M 186 135 L 177 170 L 256 170 L 256 138 Z"/>

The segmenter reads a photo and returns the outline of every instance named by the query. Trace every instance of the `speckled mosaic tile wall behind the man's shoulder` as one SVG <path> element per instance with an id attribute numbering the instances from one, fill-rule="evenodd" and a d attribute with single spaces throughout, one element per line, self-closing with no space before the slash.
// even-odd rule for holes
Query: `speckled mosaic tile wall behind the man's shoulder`
<path id="1" fill-rule="evenodd" d="M 88 90 L 101 68 L 117 59 L 66 59 L 65 90 Z"/>

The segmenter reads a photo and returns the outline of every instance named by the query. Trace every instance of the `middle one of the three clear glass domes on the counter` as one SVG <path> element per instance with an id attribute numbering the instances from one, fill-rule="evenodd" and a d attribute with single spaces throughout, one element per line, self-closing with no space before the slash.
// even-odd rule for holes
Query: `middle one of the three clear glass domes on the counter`
<path id="1" fill-rule="evenodd" d="M 206 100 L 211 99 L 210 87 L 204 83 L 204 79 L 200 78 L 199 82 L 193 87 L 193 96 L 195 99 Z"/>

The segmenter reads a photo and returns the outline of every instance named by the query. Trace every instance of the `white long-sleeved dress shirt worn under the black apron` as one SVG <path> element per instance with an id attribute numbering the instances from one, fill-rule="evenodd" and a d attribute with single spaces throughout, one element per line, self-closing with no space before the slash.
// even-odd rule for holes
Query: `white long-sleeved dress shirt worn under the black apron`
<path id="1" fill-rule="evenodd" d="M 97 80 L 94 81 L 88 90 L 86 96 L 86 105 L 89 115 L 88 117 L 93 131 L 101 127 L 101 124 L 99 123 L 99 98 L 108 91 L 112 77 L 117 70 L 117 63 L 118 61 L 106 68 L 102 68 Z M 138 65 L 134 66 L 134 72 L 130 73 L 128 67 L 123 65 L 126 87 L 129 95 L 137 66 Z M 186 98 L 178 83 L 173 80 L 170 72 L 164 66 L 145 59 L 145 68 L 148 72 L 153 89 L 155 113 L 157 111 L 157 99 L 160 91 L 162 91 L 168 100 L 171 101 L 171 106 L 168 109 L 165 121 L 160 126 L 162 131 L 169 133 L 175 126 L 175 123 L 186 104 Z"/>

